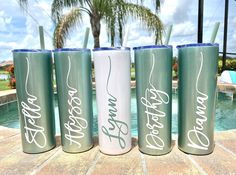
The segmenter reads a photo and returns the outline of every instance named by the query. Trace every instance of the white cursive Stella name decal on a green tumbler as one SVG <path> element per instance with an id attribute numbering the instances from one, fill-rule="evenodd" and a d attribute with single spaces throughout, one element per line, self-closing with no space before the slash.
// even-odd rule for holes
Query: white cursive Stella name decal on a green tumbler
<path id="1" fill-rule="evenodd" d="M 28 57 L 25 58 L 27 62 L 26 79 L 25 79 L 25 92 L 27 100 L 21 101 L 21 112 L 24 116 L 24 129 L 25 139 L 28 143 L 34 143 L 39 148 L 44 148 L 47 144 L 46 135 L 44 128 L 37 125 L 37 120 L 41 118 L 41 107 L 38 105 L 38 98 L 28 91 L 28 79 L 29 79 L 29 68 L 30 61 Z"/>

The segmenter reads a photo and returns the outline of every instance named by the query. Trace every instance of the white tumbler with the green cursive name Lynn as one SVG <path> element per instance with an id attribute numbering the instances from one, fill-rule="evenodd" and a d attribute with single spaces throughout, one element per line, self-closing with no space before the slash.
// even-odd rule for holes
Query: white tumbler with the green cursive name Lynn
<path id="1" fill-rule="evenodd" d="M 93 51 L 100 151 L 124 154 L 131 149 L 130 48 Z"/>

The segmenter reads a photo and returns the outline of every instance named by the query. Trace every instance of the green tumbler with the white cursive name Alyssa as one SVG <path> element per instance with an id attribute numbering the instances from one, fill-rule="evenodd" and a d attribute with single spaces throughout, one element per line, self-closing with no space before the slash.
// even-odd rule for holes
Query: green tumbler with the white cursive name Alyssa
<path id="1" fill-rule="evenodd" d="M 93 146 L 91 52 L 54 51 L 62 149 L 78 153 Z"/>

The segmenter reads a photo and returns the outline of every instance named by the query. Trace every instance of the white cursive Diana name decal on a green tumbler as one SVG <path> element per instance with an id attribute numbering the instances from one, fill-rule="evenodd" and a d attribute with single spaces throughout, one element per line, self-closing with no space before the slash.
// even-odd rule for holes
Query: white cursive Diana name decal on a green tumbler
<path id="1" fill-rule="evenodd" d="M 203 54 L 201 52 L 200 57 L 201 65 L 197 76 L 196 81 L 196 91 L 197 91 L 197 108 L 196 108 L 196 123 L 193 126 L 192 130 L 188 131 L 188 146 L 200 150 L 208 150 L 210 145 L 209 138 L 203 133 L 203 124 L 207 121 L 206 117 L 206 102 L 208 100 L 208 96 L 201 92 L 198 88 L 199 77 L 202 71 L 203 66 Z"/>

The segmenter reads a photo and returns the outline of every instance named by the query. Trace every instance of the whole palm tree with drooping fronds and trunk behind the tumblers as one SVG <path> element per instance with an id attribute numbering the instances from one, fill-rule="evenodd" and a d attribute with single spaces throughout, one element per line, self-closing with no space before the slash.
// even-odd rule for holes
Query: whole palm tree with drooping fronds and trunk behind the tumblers
<path id="1" fill-rule="evenodd" d="M 28 0 L 19 1 L 21 5 L 27 5 Z M 100 47 L 101 20 L 106 23 L 111 45 L 114 46 L 114 38 L 117 35 L 122 43 L 123 27 L 128 17 L 139 19 L 148 31 L 154 32 L 155 43 L 161 41 L 163 25 L 157 15 L 160 1 L 154 1 L 156 13 L 143 6 L 143 0 L 135 2 L 125 0 L 53 0 L 51 13 L 56 24 L 53 36 L 54 47 L 62 48 L 64 46 L 70 29 L 83 22 L 83 14 L 89 15 L 95 48 Z M 70 11 L 64 14 L 64 8 L 70 8 Z"/>

